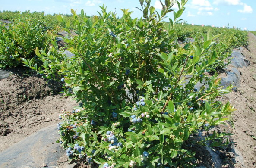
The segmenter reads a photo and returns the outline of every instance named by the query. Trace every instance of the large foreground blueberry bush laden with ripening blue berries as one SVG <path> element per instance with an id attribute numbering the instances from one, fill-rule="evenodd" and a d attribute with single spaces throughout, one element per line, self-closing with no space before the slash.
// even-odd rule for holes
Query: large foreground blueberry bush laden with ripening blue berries
<path id="1" fill-rule="evenodd" d="M 150 0 L 139 2 L 143 17 L 136 19 L 128 9 L 121 9 L 118 19 L 105 6 L 99 16 L 88 18 L 82 10 L 78 19 L 71 9 L 73 22 L 57 16 L 65 31 L 72 27 L 77 34 L 64 39 L 67 46 L 58 49 L 56 35 L 50 34 L 52 45 L 35 50 L 41 66 L 22 60 L 45 78 L 61 78 L 63 93 L 79 102 L 72 111 L 62 110 L 57 126 L 57 142 L 70 160 L 85 159 L 100 168 L 193 167 L 195 153 L 187 144 L 221 146 L 229 134 L 200 142 L 190 137 L 223 123 L 234 110 L 216 100 L 231 86 L 223 89 L 217 74 L 205 75 L 215 56 L 203 58 L 216 36 L 206 34 L 202 47 L 180 47 L 174 27 L 187 0 L 165 0 L 161 12 Z M 172 9 L 175 3 L 177 11 Z M 162 21 L 171 12 L 174 17 L 164 29 Z"/>

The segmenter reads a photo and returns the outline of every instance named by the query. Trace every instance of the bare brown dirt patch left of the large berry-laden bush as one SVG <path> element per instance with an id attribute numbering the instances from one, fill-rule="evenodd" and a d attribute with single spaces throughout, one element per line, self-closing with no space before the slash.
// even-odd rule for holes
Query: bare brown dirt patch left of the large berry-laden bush
<path id="1" fill-rule="evenodd" d="M 60 90 L 60 83 L 47 83 L 20 71 L 0 80 L 0 151 L 57 123 L 61 109 L 77 106 L 70 98 L 57 94 Z"/>

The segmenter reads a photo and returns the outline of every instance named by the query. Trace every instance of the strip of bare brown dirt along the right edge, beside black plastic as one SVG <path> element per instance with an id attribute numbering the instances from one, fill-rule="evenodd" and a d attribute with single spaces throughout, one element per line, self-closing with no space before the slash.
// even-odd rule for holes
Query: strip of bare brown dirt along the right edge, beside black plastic
<path id="1" fill-rule="evenodd" d="M 256 168 L 256 36 L 249 33 L 249 44 L 243 55 L 250 61 L 247 68 L 240 68 L 241 84 L 237 92 L 226 99 L 237 109 L 233 112 L 232 139 L 241 152 L 245 168 Z M 235 163 L 235 168 L 244 168 Z"/>

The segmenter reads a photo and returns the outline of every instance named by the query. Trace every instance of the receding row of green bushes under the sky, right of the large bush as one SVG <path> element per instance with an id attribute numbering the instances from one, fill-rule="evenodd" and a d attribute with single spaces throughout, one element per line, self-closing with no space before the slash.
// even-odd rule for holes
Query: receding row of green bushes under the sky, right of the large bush
<path id="1" fill-rule="evenodd" d="M 168 28 L 168 24 L 164 24 L 164 27 Z M 248 42 L 247 31 L 234 28 L 212 28 L 210 26 L 192 26 L 183 23 L 177 24 L 174 30 L 176 30 L 175 36 L 178 40 L 186 41 L 187 38 L 194 38 L 195 42 L 193 44 L 197 44 L 200 47 L 202 47 L 204 42 L 202 34 L 206 34 L 209 30 L 213 35 L 220 34 L 211 51 L 205 55 L 205 59 L 209 59 L 212 55 L 215 55 L 216 62 L 211 68 L 216 70 L 226 68 L 231 63 L 228 57 L 231 56 L 232 50 L 240 46 L 246 46 Z"/>

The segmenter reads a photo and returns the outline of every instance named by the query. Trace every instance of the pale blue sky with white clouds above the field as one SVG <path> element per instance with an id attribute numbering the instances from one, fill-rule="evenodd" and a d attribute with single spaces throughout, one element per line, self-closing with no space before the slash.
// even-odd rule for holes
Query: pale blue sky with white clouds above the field
<path id="1" fill-rule="evenodd" d="M 164 2 L 164 0 L 162 0 Z M 84 9 L 87 15 L 97 15 L 103 3 L 107 10 L 114 11 L 122 16 L 120 9 L 126 8 L 133 12 L 133 17 L 141 17 L 136 7 L 139 7 L 139 0 L 0 0 L 0 11 L 19 10 L 44 11 L 47 14 L 68 13 L 70 9 L 77 9 L 80 12 Z M 159 0 L 152 0 L 156 9 L 161 9 Z M 247 30 L 256 30 L 256 0 L 188 0 L 186 10 L 181 19 L 189 24 L 214 25 L 215 27 L 237 27 Z M 177 9 L 177 6 L 174 6 Z M 172 14 L 169 14 L 172 17 Z"/>

